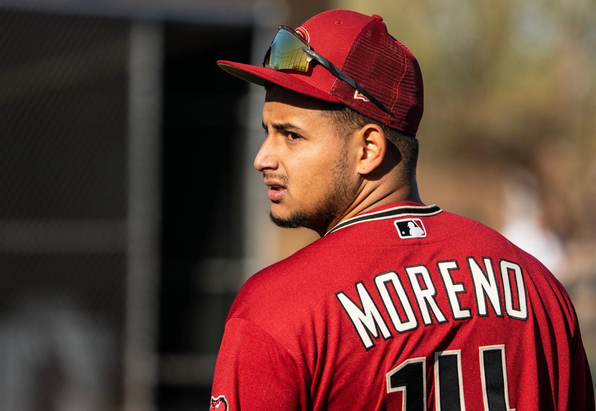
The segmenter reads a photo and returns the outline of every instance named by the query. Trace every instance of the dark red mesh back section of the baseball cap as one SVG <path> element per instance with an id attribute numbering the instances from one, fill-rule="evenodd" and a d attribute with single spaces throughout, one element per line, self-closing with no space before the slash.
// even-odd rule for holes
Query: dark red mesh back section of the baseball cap
<path id="1" fill-rule="evenodd" d="M 362 96 L 355 95 L 355 90 L 344 81 L 334 82 L 329 94 L 384 125 L 416 135 L 423 113 L 420 67 L 414 55 L 387 33 L 382 21 L 375 18 L 362 29 L 340 68 L 395 116 L 362 100 Z"/>

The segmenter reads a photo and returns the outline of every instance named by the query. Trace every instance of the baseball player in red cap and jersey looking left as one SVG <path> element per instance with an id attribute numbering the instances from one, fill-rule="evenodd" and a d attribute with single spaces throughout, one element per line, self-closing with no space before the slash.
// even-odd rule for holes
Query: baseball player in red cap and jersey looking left
<path id="1" fill-rule="evenodd" d="M 217 410 L 594 409 L 573 305 L 535 258 L 423 205 L 422 77 L 379 16 L 280 26 L 254 160 L 271 219 L 321 239 L 255 274 L 225 325 Z"/>

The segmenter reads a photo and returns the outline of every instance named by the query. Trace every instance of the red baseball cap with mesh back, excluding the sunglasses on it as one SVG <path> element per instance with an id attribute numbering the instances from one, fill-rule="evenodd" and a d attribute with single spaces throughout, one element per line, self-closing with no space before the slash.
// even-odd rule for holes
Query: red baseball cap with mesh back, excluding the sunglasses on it
<path id="1" fill-rule="evenodd" d="M 318 64 L 308 72 L 280 71 L 226 60 L 219 60 L 218 65 L 254 84 L 270 81 L 319 100 L 342 103 L 384 125 L 416 135 L 423 113 L 422 73 L 412 52 L 387 32 L 383 18 L 331 10 L 310 18 L 296 32 L 312 50 L 383 103 L 393 116 Z"/>

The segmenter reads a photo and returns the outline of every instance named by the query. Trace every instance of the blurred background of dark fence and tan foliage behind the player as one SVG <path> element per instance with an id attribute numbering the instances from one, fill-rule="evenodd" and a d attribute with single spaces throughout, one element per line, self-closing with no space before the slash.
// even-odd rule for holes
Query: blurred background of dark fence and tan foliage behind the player
<path id="1" fill-rule="evenodd" d="M 572 296 L 596 371 L 591 0 L 0 0 L 0 409 L 207 409 L 243 282 L 312 242 L 268 223 L 260 64 L 280 23 L 379 14 L 417 56 L 425 203 Z"/>

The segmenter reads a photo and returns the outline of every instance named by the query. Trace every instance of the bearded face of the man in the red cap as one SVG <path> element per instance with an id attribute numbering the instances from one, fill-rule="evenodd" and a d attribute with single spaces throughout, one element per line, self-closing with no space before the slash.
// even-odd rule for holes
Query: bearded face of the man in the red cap
<path id="1" fill-rule="evenodd" d="M 263 106 L 266 138 L 254 159 L 269 186 L 271 220 L 325 233 L 355 199 L 358 174 L 347 137 L 338 135 L 316 100 L 277 87 Z"/>

